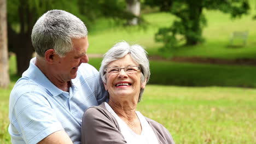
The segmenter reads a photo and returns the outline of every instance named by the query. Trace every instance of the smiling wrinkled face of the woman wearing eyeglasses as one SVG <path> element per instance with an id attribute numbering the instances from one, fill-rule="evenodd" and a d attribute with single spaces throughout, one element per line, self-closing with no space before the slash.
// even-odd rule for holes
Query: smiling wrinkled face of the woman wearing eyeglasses
<path id="1" fill-rule="evenodd" d="M 108 68 L 125 68 L 131 65 L 137 65 L 132 61 L 130 54 L 108 64 Z M 119 73 L 106 73 L 107 83 L 104 83 L 105 89 L 109 92 L 110 99 L 132 99 L 137 101 L 141 88 L 144 88 L 146 81 L 141 83 L 141 70 L 135 73 L 127 74 L 124 69 Z"/>

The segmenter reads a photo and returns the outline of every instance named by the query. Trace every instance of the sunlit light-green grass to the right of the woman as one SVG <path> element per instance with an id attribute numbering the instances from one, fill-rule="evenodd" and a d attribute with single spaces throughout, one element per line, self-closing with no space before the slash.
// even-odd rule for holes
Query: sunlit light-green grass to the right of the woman
<path id="1" fill-rule="evenodd" d="M 138 110 L 176 143 L 256 143 L 256 90 L 148 85 Z"/>

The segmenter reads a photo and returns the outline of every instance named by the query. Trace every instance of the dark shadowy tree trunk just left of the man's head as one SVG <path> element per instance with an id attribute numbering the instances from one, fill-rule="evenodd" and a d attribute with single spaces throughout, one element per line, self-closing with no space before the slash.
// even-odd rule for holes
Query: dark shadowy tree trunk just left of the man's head
<path id="1" fill-rule="evenodd" d="M 31 32 L 33 28 L 33 23 L 36 21 L 33 18 L 33 12 L 30 11 L 28 7 L 28 2 L 20 0 L 21 5 L 19 5 L 19 23 L 20 32 L 14 31 L 11 26 L 8 28 L 8 38 L 13 43 L 9 43 L 9 50 L 16 54 L 17 63 L 17 73 L 22 75 L 22 73 L 28 68 L 30 64 L 30 59 L 34 52 L 32 42 L 31 42 Z M 8 23 L 9 25 L 9 23 Z"/>

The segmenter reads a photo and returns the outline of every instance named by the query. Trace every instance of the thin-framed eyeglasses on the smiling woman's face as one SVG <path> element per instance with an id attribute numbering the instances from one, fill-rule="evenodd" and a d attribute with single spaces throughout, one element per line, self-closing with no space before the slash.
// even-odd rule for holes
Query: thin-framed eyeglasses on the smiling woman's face
<path id="1" fill-rule="evenodd" d="M 104 71 L 107 74 L 118 74 L 121 71 L 121 69 L 124 69 L 126 74 L 133 74 L 133 73 L 136 73 L 139 69 L 141 69 L 141 67 L 136 65 L 131 65 L 125 68 L 112 67 L 112 68 L 105 68 Z"/>

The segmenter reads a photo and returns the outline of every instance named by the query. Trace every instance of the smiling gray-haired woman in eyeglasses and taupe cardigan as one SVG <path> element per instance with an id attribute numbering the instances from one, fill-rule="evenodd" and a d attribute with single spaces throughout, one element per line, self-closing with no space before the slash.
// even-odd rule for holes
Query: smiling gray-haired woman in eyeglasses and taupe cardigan
<path id="1" fill-rule="evenodd" d="M 150 75 L 141 46 L 114 45 L 104 55 L 100 73 L 109 101 L 85 111 L 82 143 L 174 143 L 164 126 L 136 111 Z"/>

